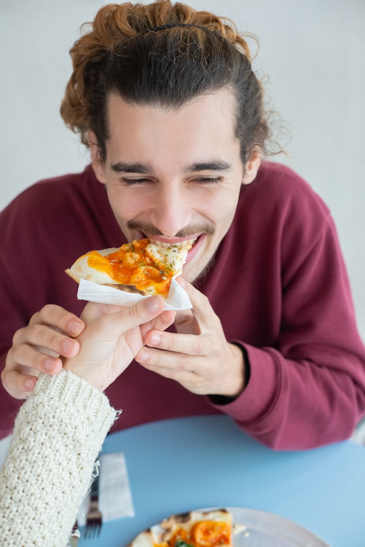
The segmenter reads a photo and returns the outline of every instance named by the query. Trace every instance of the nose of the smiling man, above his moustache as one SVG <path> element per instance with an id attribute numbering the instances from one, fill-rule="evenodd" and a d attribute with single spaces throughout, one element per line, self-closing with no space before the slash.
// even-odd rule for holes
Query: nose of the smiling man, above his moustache
<path id="1" fill-rule="evenodd" d="M 154 195 L 150 220 L 162 235 L 175 236 L 192 220 L 192 208 L 186 191 L 172 182 L 160 183 Z"/>

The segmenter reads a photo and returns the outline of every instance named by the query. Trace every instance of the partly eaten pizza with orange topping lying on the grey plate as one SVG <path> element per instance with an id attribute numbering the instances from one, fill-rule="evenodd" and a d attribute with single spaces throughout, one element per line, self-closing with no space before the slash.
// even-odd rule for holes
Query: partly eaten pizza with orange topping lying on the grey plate
<path id="1" fill-rule="evenodd" d="M 232 536 L 227 509 L 190 511 L 141 532 L 129 547 L 231 547 Z"/>

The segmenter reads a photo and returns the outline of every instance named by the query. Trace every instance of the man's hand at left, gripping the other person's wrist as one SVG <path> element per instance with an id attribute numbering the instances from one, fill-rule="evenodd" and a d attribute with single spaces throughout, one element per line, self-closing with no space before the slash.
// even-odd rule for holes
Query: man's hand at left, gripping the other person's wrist
<path id="1" fill-rule="evenodd" d="M 1 380 L 15 399 L 25 399 L 36 385 L 40 372 L 57 374 L 59 356 L 73 357 L 79 351 L 74 337 L 82 333 L 84 322 L 60 306 L 48 304 L 34 313 L 26 327 L 16 331 L 8 351 Z"/>

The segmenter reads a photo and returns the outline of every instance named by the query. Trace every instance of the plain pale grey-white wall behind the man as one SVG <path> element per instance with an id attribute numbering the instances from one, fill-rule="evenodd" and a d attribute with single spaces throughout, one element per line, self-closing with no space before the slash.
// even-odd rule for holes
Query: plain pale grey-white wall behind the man
<path id="1" fill-rule="evenodd" d="M 68 50 L 103 3 L 0 0 L 0 208 L 38 179 L 88 163 L 59 107 L 71 74 Z M 271 102 L 291 130 L 292 168 L 331 208 L 365 338 L 365 1 L 187 3 L 259 37 L 255 66 L 269 75 Z"/>

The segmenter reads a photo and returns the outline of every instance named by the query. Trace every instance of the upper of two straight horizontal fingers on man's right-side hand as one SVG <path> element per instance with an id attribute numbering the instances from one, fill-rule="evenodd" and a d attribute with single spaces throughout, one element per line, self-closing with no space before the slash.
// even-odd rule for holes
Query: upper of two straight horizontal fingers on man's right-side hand
<path id="1" fill-rule="evenodd" d="M 146 334 L 145 344 L 159 350 L 184 353 L 190 356 L 205 356 L 211 352 L 213 341 L 208 336 L 151 330 Z"/>

